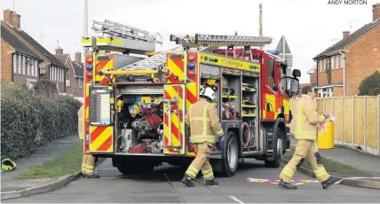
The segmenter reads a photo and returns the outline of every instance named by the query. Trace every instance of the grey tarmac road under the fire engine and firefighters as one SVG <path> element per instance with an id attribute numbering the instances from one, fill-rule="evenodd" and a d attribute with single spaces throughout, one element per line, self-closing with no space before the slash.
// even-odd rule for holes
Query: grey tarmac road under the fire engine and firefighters
<path id="1" fill-rule="evenodd" d="M 130 203 L 252 203 L 252 202 L 373 202 L 380 191 L 332 185 L 323 190 L 321 184 L 301 184 L 297 191 L 281 189 L 277 184 L 246 182 L 247 177 L 278 179 L 279 169 L 266 169 L 264 162 L 244 160 L 234 177 L 217 177 L 219 186 L 204 186 L 197 178 L 194 188 L 180 182 L 184 169 L 163 164 L 149 176 L 125 177 L 112 167 L 111 161 L 97 167 L 99 179 L 80 178 L 53 192 L 32 195 L 11 202 L 130 202 Z M 297 179 L 309 179 L 300 173 Z"/>

